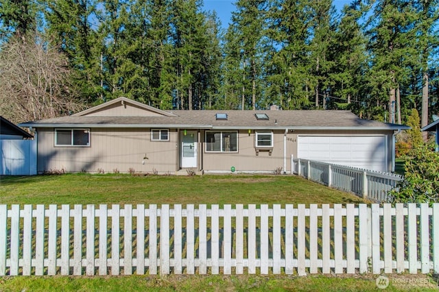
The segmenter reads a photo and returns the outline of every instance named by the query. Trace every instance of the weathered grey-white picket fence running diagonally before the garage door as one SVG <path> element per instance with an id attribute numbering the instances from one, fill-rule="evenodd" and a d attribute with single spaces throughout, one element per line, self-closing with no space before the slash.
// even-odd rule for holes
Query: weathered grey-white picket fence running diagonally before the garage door
<path id="1" fill-rule="evenodd" d="M 326 186 L 355 193 L 361 197 L 388 202 L 389 191 L 402 180 L 401 175 L 381 173 L 327 162 L 292 158 L 293 173 Z"/>

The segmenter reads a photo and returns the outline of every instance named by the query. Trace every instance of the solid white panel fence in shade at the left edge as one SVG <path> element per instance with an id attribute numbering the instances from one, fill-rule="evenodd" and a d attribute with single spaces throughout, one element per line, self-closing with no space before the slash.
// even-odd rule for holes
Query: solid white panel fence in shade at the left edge
<path id="1" fill-rule="evenodd" d="M 36 140 L 0 140 L 0 175 L 36 175 Z"/>

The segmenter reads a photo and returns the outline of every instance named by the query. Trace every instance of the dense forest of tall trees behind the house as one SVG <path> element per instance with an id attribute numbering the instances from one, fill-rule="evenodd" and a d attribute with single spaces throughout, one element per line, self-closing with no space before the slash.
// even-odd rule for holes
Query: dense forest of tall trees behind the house
<path id="1" fill-rule="evenodd" d="M 164 110 L 351 110 L 421 125 L 439 104 L 438 0 L 3 0 L 0 112 L 20 123 L 120 96 Z"/>

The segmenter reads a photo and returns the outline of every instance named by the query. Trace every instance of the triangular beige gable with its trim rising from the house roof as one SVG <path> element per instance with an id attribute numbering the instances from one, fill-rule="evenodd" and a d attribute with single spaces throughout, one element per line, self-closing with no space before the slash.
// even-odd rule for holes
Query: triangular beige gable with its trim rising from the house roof
<path id="1" fill-rule="evenodd" d="M 99 116 L 99 117 L 115 117 L 115 113 L 110 109 L 115 107 L 127 108 L 127 105 L 132 108 L 140 109 L 141 114 L 131 114 L 131 116 L 147 116 L 148 112 L 152 113 L 154 116 L 165 116 L 171 117 L 173 114 L 166 112 L 165 110 L 159 110 L 158 108 L 153 108 L 152 106 L 147 106 L 139 101 L 134 101 L 126 97 L 118 97 L 117 99 L 112 99 L 104 104 L 99 104 L 99 106 L 94 106 L 93 108 L 88 108 L 88 110 L 83 110 L 76 114 L 72 114 L 74 117 L 84 117 L 84 116 Z M 125 116 L 125 114 L 123 114 Z M 118 114 L 120 116 L 120 114 Z"/>

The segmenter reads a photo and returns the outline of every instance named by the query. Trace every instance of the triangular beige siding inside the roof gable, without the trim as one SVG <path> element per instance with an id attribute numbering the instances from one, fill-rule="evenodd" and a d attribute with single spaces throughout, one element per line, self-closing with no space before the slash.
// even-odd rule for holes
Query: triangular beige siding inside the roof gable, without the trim
<path id="1" fill-rule="evenodd" d="M 87 114 L 88 117 L 161 117 L 162 114 L 139 108 L 129 103 L 112 104 Z"/>

